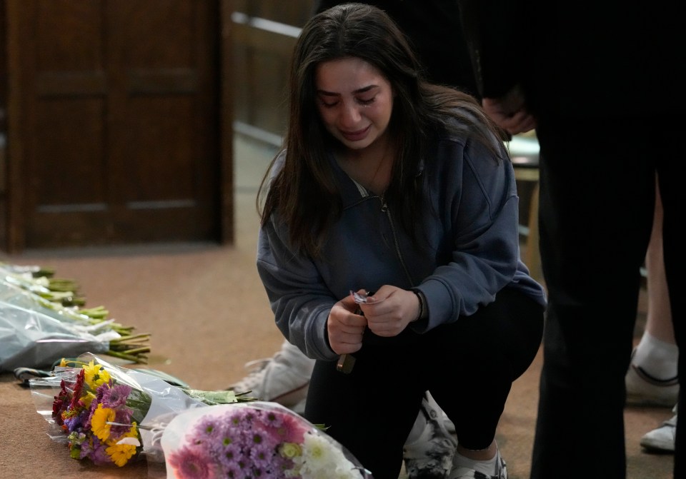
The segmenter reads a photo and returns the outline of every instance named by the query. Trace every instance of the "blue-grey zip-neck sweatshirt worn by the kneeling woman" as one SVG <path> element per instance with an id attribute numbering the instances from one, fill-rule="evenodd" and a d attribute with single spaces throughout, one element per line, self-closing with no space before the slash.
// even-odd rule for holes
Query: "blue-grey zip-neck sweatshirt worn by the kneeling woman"
<path id="1" fill-rule="evenodd" d="M 274 162 L 281 168 L 284 151 Z M 366 191 L 338 166 L 343 212 L 319 258 L 297 252 L 287 226 L 273 213 L 259 231 L 257 271 L 287 340 L 310 358 L 335 360 L 327 318 L 350 291 L 384 284 L 424 293 L 429 317 L 410 323 L 424 333 L 472 315 L 509 286 L 545 307 L 545 291 L 520 261 L 515 172 L 476 141 L 445 133 L 429 161 L 421 161 L 431 209 L 417 224 L 419 250 L 398 227 L 383 196 Z M 369 330 L 364 343 L 392 341 Z"/>

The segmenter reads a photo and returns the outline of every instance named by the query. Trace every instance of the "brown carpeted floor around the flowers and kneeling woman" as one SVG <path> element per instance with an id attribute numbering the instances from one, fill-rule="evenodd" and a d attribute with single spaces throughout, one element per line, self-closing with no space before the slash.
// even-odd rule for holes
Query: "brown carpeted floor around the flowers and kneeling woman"
<path id="1" fill-rule="evenodd" d="M 234 246 L 27 251 L 0 256 L 0 261 L 53 266 L 57 276 L 76 279 L 87 306 L 106 306 L 111 318 L 135 326 L 138 332 L 152 333 L 150 367 L 194 388 L 224 388 L 242 378 L 244 363 L 271 356 L 282 342 L 254 266 L 254 195 L 272 153 L 271 148 L 238 138 Z M 644 302 L 642 298 L 642 311 Z M 540 365 L 539 354 L 516 381 L 499 426 L 497 440 L 511 479 L 529 474 Z M 164 477 L 164 470 L 144 463 L 105 470 L 69 459 L 65 446 L 48 438 L 29 390 L 11 373 L 0 374 L 0 411 L 0 478 Z M 639 445 L 641 435 L 671 415 L 669 409 L 627 409 L 628 478 L 672 477 L 672 455 L 647 454 Z M 593 430 L 588 437 L 593 440 Z M 587 460 L 592 467 L 594 460 L 602 458 Z"/>

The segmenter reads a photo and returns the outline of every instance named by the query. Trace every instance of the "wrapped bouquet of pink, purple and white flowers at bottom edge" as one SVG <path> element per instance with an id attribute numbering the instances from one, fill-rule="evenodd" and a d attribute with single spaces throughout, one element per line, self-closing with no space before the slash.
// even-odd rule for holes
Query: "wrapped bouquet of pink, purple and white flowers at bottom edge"
<path id="1" fill-rule="evenodd" d="M 167 478 L 372 478 L 322 429 L 277 403 L 188 410 L 161 438 Z"/>

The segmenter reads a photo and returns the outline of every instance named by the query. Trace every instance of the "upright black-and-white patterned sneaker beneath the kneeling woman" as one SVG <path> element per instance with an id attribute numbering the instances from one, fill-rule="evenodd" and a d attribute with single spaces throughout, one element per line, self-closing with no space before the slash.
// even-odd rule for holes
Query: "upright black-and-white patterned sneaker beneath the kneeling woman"
<path id="1" fill-rule="evenodd" d="M 455 448 L 457 440 L 445 427 L 444 413 L 427 391 L 403 448 L 407 478 L 447 478 Z"/>

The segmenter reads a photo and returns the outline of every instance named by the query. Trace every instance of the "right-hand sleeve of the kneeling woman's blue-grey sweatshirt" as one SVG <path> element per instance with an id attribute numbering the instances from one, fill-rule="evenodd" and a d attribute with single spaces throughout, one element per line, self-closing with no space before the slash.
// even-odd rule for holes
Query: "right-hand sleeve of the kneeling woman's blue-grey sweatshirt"
<path id="1" fill-rule="evenodd" d="M 416 288 L 429 311 L 427 320 L 413 323 L 418 333 L 492 303 L 520 268 L 519 198 L 507 156 L 495 158 L 483 146 L 462 141 L 443 142 L 439 156 L 440 166 L 428 172 L 427 181 L 450 244 Z"/>

